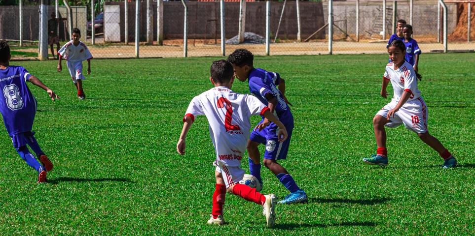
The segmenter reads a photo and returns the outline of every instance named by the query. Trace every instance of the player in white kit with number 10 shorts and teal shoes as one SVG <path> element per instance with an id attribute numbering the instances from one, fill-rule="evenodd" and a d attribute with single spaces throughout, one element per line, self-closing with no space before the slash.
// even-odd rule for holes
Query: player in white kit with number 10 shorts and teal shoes
<path id="1" fill-rule="evenodd" d="M 401 40 L 393 41 L 388 47 L 389 58 L 393 61 L 386 65 L 383 76 L 381 96 L 388 95 L 386 87 L 393 86 L 394 96 L 373 118 L 374 136 L 378 145 L 377 154 L 363 158 L 370 165 L 386 166 L 388 151 L 386 149 L 386 131 L 384 126 L 397 127 L 401 124 L 417 133 L 419 138 L 434 148 L 444 159 L 443 168 L 452 168 L 457 161 L 450 152 L 427 129 L 427 106 L 417 88 L 417 78 L 412 65 L 404 60 L 405 46 Z"/>

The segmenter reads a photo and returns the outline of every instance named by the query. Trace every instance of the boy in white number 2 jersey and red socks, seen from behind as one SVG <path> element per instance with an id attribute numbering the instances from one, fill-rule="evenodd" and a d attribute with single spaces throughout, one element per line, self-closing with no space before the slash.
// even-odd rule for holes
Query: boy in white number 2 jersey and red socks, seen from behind
<path id="1" fill-rule="evenodd" d="M 280 128 L 280 142 L 287 139 L 285 126 L 264 104 L 252 95 L 239 94 L 231 90 L 234 81 L 232 64 L 226 60 L 217 60 L 211 66 L 213 89 L 201 93 L 191 100 L 183 118 L 183 130 L 177 144 L 177 151 L 184 154 L 185 139 L 194 117 L 205 115 L 209 122 L 211 141 L 216 150 L 216 189 L 213 194 L 213 209 L 208 224 L 224 224 L 222 208 L 226 190 L 247 201 L 262 205 L 267 227 L 272 228 L 275 221 L 276 197 L 273 194 L 262 195 L 255 188 L 240 184 L 244 176 L 241 159 L 246 151 L 249 139 L 252 115 L 261 115 L 275 122 Z"/>

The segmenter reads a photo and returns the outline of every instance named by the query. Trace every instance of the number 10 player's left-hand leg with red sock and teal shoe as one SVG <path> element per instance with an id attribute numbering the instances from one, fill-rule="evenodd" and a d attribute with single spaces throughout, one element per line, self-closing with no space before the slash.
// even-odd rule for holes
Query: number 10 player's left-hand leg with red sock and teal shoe
<path id="1" fill-rule="evenodd" d="M 363 158 L 363 161 L 369 165 L 386 166 L 388 165 L 388 150 L 386 149 L 386 129 L 384 125 L 389 120 L 385 117 L 376 115 L 373 118 L 374 137 L 376 138 L 376 145 L 378 149 L 376 154 L 372 154 L 371 157 Z"/>

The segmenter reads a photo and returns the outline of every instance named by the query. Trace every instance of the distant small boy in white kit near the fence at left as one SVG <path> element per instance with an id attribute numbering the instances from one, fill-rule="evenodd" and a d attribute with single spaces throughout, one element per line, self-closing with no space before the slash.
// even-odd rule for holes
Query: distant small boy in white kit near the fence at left
<path id="1" fill-rule="evenodd" d="M 73 79 L 74 86 L 77 89 L 77 97 L 82 100 L 86 98 L 86 94 L 84 94 L 84 90 L 82 89 L 82 80 L 86 79 L 84 75 L 82 75 L 82 61 L 87 60 L 87 74 L 91 74 L 92 55 L 89 49 L 87 49 L 87 46 L 79 41 L 80 37 L 81 31 L 74 28 L 72 35 L 73 40 L 66 43 L 58 51 L 58 72 L 63 70 L 61 59 L 66 59 L 71 79 Z"/>

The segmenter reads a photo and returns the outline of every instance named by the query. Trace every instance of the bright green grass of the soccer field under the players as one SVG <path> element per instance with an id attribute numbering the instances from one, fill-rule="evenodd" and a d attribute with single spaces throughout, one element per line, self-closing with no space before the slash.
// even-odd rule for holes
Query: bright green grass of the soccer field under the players
<path id="1" fill-rule="evenodd" d="M 387 168 L 362 162 L 376 148 L 371 119 L 390 101 L 379 96 L 387 56 L 256 57 L 286 79 L 295 129 L 282 164 L 309 196 L 309 204 L 278 206 L 275 229 L 265 228 L 260 206 L 229 194 L 228 224 L 206 224 L 215 153 L 205 117 L 196 118 L 186 155 L 176 152 L 189 101 L 211 88 L 214 59 L 93 60 L 84 101 L 55 61 L 16 61 L 61 96 L 52 102 L 30 85 L 34 131 L 55 169 L 36 184 L 0 129 L 0 234 L 475 234 L 474 54 L 421 59 L 429 130 L 457 157 L 451 170 L 403 127 L 387 130 Z M 232 89 L 249 93 L 237 80 Z M 288 193 L 265 168 L 262 177 L 263 193 Z"/>

